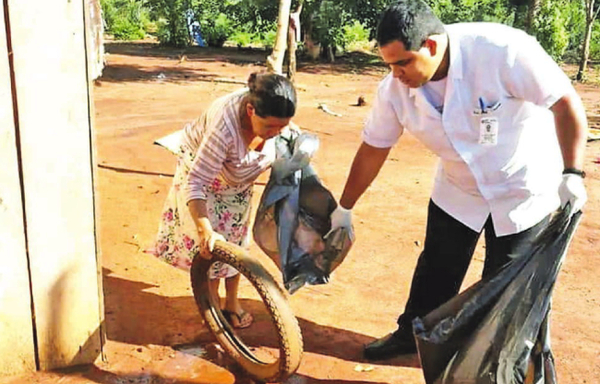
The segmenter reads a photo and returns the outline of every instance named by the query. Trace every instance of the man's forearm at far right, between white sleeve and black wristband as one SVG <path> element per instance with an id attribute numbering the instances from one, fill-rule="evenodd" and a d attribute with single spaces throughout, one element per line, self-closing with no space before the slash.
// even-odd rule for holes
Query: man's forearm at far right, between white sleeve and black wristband
<path id="1" fill-rule="evenodd" d="M 564 167 L 582 169 L 588 124 L 581 99 L 576 94 L 563 96 L 551 110 Z"/>

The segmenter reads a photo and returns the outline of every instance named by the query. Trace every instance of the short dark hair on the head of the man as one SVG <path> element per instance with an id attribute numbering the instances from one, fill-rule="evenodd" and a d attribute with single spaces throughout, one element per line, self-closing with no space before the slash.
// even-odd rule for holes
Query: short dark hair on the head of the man
<path id="1" fill-rule="evenodd" d="M 416 51 L 429 36 L 444 32 L 444 24 L 424 1 L 398 0 L 381 14 L 377 43 L 383 47 L 399 40 L 407 51 Z"/>

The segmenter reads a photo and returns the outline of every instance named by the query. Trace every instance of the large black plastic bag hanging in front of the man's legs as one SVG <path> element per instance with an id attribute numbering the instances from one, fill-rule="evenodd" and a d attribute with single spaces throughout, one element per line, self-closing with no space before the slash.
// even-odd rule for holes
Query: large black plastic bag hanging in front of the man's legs
<path id="1" fill-rule="evenodd" d="M 427 384 L 556 384 L 550 298 L 580 216 L 567 205 L 522 255 L 413 320 Z"/>

